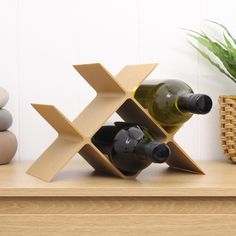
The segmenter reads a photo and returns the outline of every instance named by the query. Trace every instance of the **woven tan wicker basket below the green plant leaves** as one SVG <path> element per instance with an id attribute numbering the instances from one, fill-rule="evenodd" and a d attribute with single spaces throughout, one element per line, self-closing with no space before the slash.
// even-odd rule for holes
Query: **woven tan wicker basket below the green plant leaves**
<path id="1" fill-rule="evenodd" d="M 236 96 L 220 96 L 221 142 L 226 157 L 236 163 Z"/>

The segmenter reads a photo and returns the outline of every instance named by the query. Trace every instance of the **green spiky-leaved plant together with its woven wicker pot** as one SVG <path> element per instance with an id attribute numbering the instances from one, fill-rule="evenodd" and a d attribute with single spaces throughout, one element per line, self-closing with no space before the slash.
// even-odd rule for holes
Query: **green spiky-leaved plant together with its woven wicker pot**
<path id="1" fill-rule="evenodd" d="M 236 39 L 224 25 L 214 21 L 209 22 L 217 24 L 224 30 L 224 40 L 212 39 L 205 33 L 187 30 L 187 34 L 206 51 L 191 41 L 189 43 L 214 67 L 236 83 Z M 209 52 L 215 58 L 212 58 Z M 221 61 L 222 65 L 216 62 L 216 58 Z M 226 157 L 236 163 L 236 96 L 220 96 L 219 103 L 222 146 Z"/>

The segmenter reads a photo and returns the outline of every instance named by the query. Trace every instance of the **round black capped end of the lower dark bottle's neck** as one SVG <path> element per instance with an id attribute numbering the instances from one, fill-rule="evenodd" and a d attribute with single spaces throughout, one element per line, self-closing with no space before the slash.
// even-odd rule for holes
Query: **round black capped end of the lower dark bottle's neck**
<path id="1" fill-rule="evenodd" d="M 170 148 L 166 144 L 162 143 L 153 149 L 152 159 L 156 163 L 163 163 L 169 159 L 170 154 Z"/>

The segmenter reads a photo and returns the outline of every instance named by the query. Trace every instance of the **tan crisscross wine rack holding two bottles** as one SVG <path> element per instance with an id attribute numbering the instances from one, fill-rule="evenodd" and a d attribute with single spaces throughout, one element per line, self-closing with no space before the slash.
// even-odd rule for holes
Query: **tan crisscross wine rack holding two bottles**
<path id="1" fill-rule="evenodd" d="M 165 130 L 133 97 L 133 91 L 153 71 L 157 64 L 128 65 L 113 77 L 101 64 L 75 65 L 74 68 L 96 90 L 97 96 L 71 122 L 53 105 L 32 104 L 40 115 L 58 132 L 56 140 L 33 163 L 27 173 L 44 181 L 51 181 L 79 152 L 98 171 L 121 178 L 126 176 L 91 142 L 96 131 L 117 112 L 126 122 L 146 126 L 151 133 L 171 149 L 167 164 L 170 167 L 204 174 L 188 154 L 174 141 L 180 127 Z"/>

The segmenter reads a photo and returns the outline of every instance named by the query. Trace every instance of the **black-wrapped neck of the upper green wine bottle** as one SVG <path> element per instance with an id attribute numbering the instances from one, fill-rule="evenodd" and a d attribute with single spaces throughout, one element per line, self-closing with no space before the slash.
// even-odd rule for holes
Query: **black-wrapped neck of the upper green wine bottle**
<path id="1" fill-rule="evenodd" d="M 186 94 L 178 97 L 177 107 L 183 113 L 206 114 L 212 108 L 212 100 L 205 94 Z"/>

